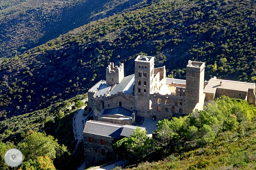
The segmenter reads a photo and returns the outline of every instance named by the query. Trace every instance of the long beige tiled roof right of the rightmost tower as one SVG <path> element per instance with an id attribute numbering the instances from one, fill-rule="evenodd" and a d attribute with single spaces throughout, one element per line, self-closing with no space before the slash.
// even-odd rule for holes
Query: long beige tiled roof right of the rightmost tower
<path id="1" fill-rule="evenodd" d="M 236 82 L 231 80 L 211 78 L 204 88 L 204 93 L 215 93 L 217 88 L 248 92 L 249 88 L 255 88 L 255 83 Z"/>

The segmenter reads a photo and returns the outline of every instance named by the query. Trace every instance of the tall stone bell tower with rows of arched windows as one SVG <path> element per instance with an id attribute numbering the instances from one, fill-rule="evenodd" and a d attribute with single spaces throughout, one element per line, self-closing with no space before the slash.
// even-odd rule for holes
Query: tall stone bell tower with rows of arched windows
<path id="1" fill-rule="evenodd" d="M 150 94 L 153 94 L 154 57 L 138 56 L 135 59 L 134 96 L 136 110 L 144 116 L 150 109 Z M 146 116 L 144 116 L 146 117 Z"/>

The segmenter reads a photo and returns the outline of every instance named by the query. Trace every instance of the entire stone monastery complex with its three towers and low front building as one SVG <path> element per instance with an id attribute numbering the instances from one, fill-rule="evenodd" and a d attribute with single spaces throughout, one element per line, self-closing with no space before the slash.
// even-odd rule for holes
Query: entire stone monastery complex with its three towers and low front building
<path id="1" fill-rule="evenodd" d="M 133 126 L 130 125 L 135 124 L 138 116 L 158 121 L 171 119 L 173 114 L 188 115 L 193 110 L 203 110 L 204 105 L 222 95 L 240 98 L 256 106 L 255 83 L 216 77 L 204 81 L 204 68 L 204 62 L 189 60 L 186 80 L 180 80 L 166 78 L 165 66 L 155 68 L 154 57 L 150 56 L 136 57 L 135 74 L 126 77 L 123 64 L 110 63 L 106 67 L 106 80 L 96 83 L 88 91 L 86 113 L 93 114 L 94 121 L 86 122 L 83 131 L 85 160 L 91 166 L 96 161 L 106 162 L 105 150 L 108 155 L 113 154 L 113 138 L 121 138 L 121 129 L 131 129 Z M 93 144 L 93 141 L 97 142 Z M 88 154 L 98 156 L 90 159 Z"/>

